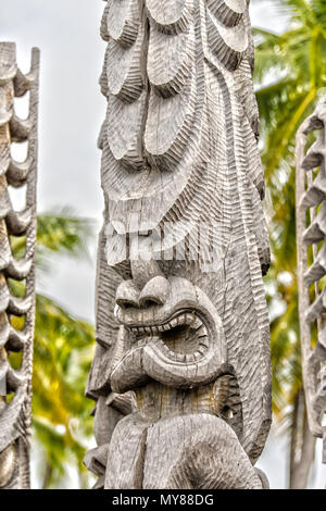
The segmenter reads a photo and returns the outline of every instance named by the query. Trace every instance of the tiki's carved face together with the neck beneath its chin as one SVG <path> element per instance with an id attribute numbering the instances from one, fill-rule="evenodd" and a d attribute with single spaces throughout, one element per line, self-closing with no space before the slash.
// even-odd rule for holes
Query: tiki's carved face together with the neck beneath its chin
<path id="1" fill-rule="evenodd" d="M 240 388 L 216 307 L 221 274 L 185 262 L 171 273 L 163 261 L 138 260 L 118 285 L 112 390 L 134 390 L 145 420 L 192 410 L 223 417 L 240 437 Z M 200 287 L 209 279 L 210 296 Z"/>

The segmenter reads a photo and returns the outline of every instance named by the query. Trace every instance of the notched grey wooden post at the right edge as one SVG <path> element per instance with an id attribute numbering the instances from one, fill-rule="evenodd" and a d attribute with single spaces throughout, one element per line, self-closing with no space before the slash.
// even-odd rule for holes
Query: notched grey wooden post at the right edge
<path id="1" fill-rule="evenodd" d="M 316 141 L 306 151 L 308 136 Z M 326 104 L 319 104 L 297 134 L 297 248 L 302 372 L 311 433 L 324 438 L 326 413 L 325 235 Z M 316 327 L 317 344 L 312 346 Z M 326 463 L 326 457 L 324 456 Z"/>

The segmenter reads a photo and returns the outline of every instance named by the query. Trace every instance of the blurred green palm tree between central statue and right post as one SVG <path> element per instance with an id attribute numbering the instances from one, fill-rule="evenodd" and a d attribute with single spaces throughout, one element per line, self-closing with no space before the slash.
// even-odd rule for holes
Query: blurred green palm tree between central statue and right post
<path id="1" fill-rule="evenodd" d="M 262 0 L 261 0 L 262 1 Z M 263 0 L 264 1 L 264 0 Z M 262 159 L 271 215 L 273 410 L 291 432 L 291 488 L 305 487 L 315 440 L 306 424 L 297 297 L 294 144 L 302 121 L 325 95 L 325 0 L 274 0 L 288 21 L 284 34 L 254 29 Z"/>

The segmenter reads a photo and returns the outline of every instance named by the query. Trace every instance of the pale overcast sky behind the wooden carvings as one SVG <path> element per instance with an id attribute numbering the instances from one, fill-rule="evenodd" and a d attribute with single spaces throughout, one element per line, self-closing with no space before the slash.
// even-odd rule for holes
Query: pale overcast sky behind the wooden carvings
<path id="1" fill-rule="evenodd" d="M 41 50 L 38 210 L 70 207 L 101 223 L 100 151 L 97 136 L 105 101 L 98 77 L 104 42 L 99 36 L 102 0 L 0 0 L 0 39 L 15 41 L 21 68 L 28 70 L 33 46 Z M 279 32 L 284 20 L 273 1 L 255 1 L 252 24 Z M 24 112 L 24 104 L 18 105 Z M 55 261 L 38 289 L 54 297 L 74 314 L 93 321 L 95 248 L 89 262 Z M 286 485 L 284 440 L 271 439 L 259 465 L 271 486 Z M 321 451 L 321 446 L 318 448 Z M 316 487 L 324 487 L 318 470 Z"/>

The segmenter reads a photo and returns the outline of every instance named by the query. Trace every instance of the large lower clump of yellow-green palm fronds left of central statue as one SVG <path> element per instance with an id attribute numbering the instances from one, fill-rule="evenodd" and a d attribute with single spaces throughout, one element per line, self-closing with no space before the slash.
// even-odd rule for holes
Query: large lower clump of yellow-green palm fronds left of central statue
<path id="1" fill-rule="evenodd" d="M 43 447 L 46 485 L 59 483 L 64 463 L 83 471 L 92 433 L 92 403 L 85 398 L 93 357 L 93 327 L 53 300 L 37 295 L 33 375 L 35 440 Z"/>

